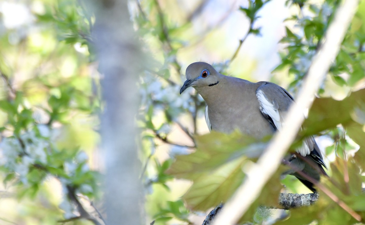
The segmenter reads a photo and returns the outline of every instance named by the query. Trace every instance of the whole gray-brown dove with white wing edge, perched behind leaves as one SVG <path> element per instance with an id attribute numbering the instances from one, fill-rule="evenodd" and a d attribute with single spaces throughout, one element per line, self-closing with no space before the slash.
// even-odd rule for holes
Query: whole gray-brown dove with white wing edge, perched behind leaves
<path id="1" fill-rule="evenodd" d="M 252 83 L 225 76 L 205 62 L 190 64 L 186 69 L 186 79 L 180 94 L 193 87 L 203 97 L 207 103 L 205 121 L 209 130 L 231 133 L 238 129 L 243 134 L 262 138 L 281 129 L 283 117 L 293 103 L 293 97 L 274 83 Z M 320 174 L 326 175 L 323 167 L 327 167 L 313 137 L 307 137 L 296 152 L 303 156 L 303 159 L 290 158 L 296 170 L 315 180 L 319 180 Z M 296 176 L 311 191 L 316 191 L 314 184 L 295 170 L 285 174 Z"/>

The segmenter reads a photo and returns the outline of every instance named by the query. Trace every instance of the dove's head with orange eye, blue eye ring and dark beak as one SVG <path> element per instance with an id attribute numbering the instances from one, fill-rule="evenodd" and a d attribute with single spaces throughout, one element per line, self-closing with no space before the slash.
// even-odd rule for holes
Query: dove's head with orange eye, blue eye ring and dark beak
<path id="1" fill-rule="evenodd" d="M 188 87 L 193 87 L 198 91 L 200 88 L 217 85 L 220 73 L 206 62 L 194 62 L 188 66 L 185 75 L 187 80 L 181 87 L 180 94 Z"/>

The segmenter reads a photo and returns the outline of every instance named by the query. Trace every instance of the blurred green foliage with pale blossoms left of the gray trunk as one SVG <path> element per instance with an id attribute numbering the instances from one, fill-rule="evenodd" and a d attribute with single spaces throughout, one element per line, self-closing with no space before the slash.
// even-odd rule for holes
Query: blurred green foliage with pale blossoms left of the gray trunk
<path id="1" fill-rule="evenodd" d="M 89 209 L 101 197 L 91 155 L 100 111 L 95 18 L 86 6 L 0 2 L 1 189 L 23 205 L 1 203 L 1 224 L 90 224 L 75 204 Z"/>

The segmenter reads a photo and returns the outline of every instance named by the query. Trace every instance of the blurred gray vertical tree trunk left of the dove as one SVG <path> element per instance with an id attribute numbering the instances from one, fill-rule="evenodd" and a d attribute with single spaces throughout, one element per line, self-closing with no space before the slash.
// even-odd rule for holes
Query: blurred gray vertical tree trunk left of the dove
<path id="1" fill-rule="evenodd" d="M 138 109 L 136 83 L 144 60 L 141 60 L 127 0 L 94 3 L 93 37 L 99 70 L 104 76 L 101 80 L 104 106 L 101 137 L 106 169 L 107 224 L 143 224 L 134 121 Z"/>

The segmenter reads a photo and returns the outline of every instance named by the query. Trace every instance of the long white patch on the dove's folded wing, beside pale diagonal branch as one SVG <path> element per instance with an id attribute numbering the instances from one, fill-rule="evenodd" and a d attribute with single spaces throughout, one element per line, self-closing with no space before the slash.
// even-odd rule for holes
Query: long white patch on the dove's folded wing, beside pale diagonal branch
<path id="1" fill-rule="evenodd" d="M 264 92 L 260 89 L 256 92 L 256 97 L 258 99 L 258 102 L 260 103 L 260 111 L 268 115 L 273 120 L 276 128 L 278 130 L 281 130 L 282 120 L 281 116 L 279 115 L 279 106 L 277 102 L 269 102 L 269 100 L 266 99 Z"/>

